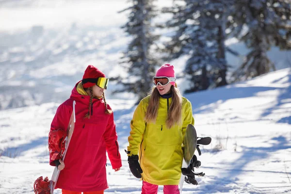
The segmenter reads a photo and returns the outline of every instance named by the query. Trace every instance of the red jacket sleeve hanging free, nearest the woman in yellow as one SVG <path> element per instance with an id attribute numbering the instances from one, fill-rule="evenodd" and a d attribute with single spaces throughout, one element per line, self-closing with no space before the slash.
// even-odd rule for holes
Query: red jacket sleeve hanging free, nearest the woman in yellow
<path id="1" fill-rule="evenodd" d="M 107 150 L 112 168 L 113 169 L 120 168 L 122 164 L 121 164 L 121 157 L 119 153 L 119 146 L 117 142 L 117 133 L 115 130 L 115 122 L 113 119 L 113 113 L 111 113 L 110 115 L 107 128 L 103 136 L 105 139 L 106 150 Z"/>

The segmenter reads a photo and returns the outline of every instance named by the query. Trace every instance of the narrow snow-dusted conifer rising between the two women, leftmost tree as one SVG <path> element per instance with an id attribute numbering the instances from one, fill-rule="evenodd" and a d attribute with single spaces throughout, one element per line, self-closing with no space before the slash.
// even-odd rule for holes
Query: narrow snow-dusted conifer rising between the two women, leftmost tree
<path id="1" fill-rule="evenodd" d="M 138 100 L 146 97 L 152 86 L 152 77 L 155 74 L 157 60 L 151 53 L 151 47 L 159 39 L 159 35 L 153 34 L 152 19 L 156 16 L 153 5 L 154 0 L 129 0 L 131 6 L 121 11 L 130 11 L 128 22 L 121 28 L 132 37 L 121 65 L 127 69 L 128 75 L 117 80 L 123 88 L 114 92 L 133 92 Z"/>

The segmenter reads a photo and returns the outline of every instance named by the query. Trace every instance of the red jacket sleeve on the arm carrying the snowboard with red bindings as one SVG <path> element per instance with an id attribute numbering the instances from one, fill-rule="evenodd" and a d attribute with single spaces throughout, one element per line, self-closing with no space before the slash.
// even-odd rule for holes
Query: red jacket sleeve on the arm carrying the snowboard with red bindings
<path id="1" fill-rule="evenodd" d="M 61 129 L 61 130 L 64 130 L 66 133 L 66 130 L 70 121 L 70 117 L 72 114 L 72 108 L 65 104 L 66 102 L 64 102 L 58 107 L 57 112 L 51 122 L 50 131 Z M 49 133 L 49 140 L 50 140 L 50 134 L 51 133 Z M 50 144 L 50 146 L 53 146 L 53 145 Z M 49 164 L 51 166 L 55 166 L 55 163 L 53 162 L 54 160 L 51 160 L 52 154 L 53 153 L 49 153 Z M 60 159 L 60 156 L 58 156 L 55 160 L 58 160 L 58 159 Z"/>

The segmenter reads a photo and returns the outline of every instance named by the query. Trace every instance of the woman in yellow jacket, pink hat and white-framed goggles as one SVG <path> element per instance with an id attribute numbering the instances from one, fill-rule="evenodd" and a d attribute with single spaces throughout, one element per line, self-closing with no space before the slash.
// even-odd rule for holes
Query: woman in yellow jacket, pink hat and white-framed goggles
<path id="1" fill-rule="evenodd" d="M 179 194 L 183 137 L 187 125 L 194 125 L 192 105 L 175 87 L 173 65 L 162 65 L 153 82 L 130 123 L 129 168 L 143 180 L 142 194 L 157 194 L 158 185 L 164 185 L 164 194 Z"/>

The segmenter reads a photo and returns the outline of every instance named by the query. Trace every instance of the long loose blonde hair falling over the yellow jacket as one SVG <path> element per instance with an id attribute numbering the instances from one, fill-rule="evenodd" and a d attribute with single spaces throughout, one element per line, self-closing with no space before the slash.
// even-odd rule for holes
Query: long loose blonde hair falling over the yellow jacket
<path id="1" fill-rule="evenodd" d="M 182 95 L 178 88 L 171 86 L 172 93 L 172 103 L 169 108 L 169 112 L 166 120 L 166 127 L 168 129 L 172 128 L 174 125 L 181 125 L 182 121 Z M 153 87 L 153 90 L 150 94 L 148 107 L 146 111 L 145 120 L 146 122 L 156 122 L 158 109 L 160 102 L 160 93 L 156 86 Z"/>

